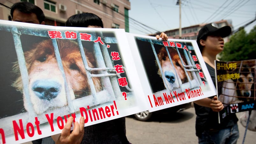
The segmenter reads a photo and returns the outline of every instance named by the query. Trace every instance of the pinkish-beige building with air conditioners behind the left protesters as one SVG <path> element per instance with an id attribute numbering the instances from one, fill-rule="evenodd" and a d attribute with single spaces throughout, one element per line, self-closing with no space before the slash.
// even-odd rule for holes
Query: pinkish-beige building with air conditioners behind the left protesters
<path id="1" fill-rule="evenodd" d="M 20 1 L 40 7 L 46 17 L 46 25 L 64 26 L 70 16 L 90 12 L 98 15 L 104 28 L 122 28 L 129 32 L 129 0 L 0 0 L 0 19 L 11 20 L 10 8 Z"/>

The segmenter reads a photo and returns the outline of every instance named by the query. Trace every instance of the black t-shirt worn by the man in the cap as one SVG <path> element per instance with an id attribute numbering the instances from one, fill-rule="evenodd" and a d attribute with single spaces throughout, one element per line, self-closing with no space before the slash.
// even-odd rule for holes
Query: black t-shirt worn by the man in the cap
<path id="1" fill-rule="evenodd" d="M 215 69 L 212 68 L 207 63 L 206 67 L 209 71 L 209 74 L 212 78 L 212 81 L 216 87 L 216 81 L 215 81 Z M 213 96 L 214 97 L 214 96 Z M 209 97 L 209 98 L 213 98 Z M 229 114 L 225 117 L 223 122 L 219 124 L 218 122 L 218 112 L 213 112 L 211 108 L 200 106 L 198 104 L 194 103 L 195 113 L 196 113 L 196 123 L 195 123 L 195 129 L 196 129 L 196 136 L 201 137 L 201 134 L 205 130 L 220 130 L 228 127 L 234 126 L 238 118 L 235 113 Z"/>

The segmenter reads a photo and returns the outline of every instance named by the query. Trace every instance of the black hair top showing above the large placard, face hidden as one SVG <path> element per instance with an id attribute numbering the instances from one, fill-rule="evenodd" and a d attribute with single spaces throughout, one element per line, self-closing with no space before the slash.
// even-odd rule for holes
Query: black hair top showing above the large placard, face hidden
<path id="1" fill-rule="evenodd" d="M 80 13 L 69 17 L 65 26 L 71 27 L 88 27 L 89 25 L 96 25 L 103 28 L 102 20 L 93 13 Z"/>

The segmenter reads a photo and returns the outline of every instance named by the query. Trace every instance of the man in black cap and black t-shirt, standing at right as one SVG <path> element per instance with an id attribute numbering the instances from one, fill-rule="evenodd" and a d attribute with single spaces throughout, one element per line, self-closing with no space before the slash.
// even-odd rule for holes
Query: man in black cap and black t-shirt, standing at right
<path id="1" fill-rule="evenodd" d="M 231 27 L 218 28 L 215 23 L 204 25 L 198 33 L 197 44 L 206 63 L 214 85 L 216 55 L 223 51 L 223 38 L 230 35 Z M 239 137 L 236 114 L 229 114 L 221 124 L 218 123 L 218 112 L 223 104 L 216 96 L 203 98 L 194 102 L 196 112 L 196 136 L 200 144 L 234 144 Z"/>

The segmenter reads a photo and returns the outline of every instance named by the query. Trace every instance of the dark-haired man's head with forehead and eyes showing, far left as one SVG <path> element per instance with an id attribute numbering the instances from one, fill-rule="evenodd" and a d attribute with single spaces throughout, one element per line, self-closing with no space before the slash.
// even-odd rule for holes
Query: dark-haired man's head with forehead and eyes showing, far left
<path id="1" fill-rule="evenodd" d="M 11 17 L 13 21 L 45 24 L 44 12 L 36 5 L 29 2 L 18 2 L 11 6 Z"/>

